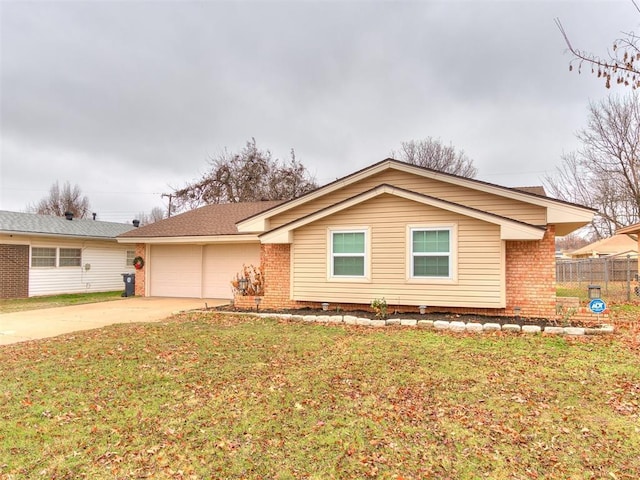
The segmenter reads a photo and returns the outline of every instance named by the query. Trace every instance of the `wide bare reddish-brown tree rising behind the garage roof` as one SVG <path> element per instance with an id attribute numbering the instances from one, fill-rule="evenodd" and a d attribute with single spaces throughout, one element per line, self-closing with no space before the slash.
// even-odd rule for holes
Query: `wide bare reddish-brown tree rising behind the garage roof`
<path id="1" fill-rule="evenodd" d="M 225 150 L 210 165 L 200 179 L 174 190 L 172 211 L 211 203 L 289 200 L 317 188 L 293 150 L 283 162 L 258 149 L 254 138 L 239 153 Z"/>

